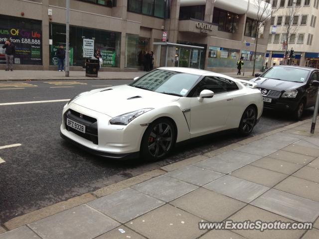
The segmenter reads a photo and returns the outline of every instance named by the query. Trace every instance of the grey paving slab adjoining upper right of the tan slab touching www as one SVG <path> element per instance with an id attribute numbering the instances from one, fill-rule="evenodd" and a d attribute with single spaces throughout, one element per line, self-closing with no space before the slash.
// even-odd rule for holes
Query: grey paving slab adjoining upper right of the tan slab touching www
<path id="1" fill-rule="evenodd" d="M 245 203 L 250 203 L 269 190 L 269 187 L 229 175 L 216 179 L 203 187 Z"/>

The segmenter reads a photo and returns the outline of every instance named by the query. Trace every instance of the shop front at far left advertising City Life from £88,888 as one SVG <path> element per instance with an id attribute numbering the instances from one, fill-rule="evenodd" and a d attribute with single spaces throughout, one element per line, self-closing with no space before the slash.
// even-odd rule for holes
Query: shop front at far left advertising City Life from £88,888
<path id="1" fill-rule="evenodd" d="M 0 15 L 0 64 L 5 64 L 6 39 L 15 46 L 14 64 L 42 65 L 41 21 Z"/>

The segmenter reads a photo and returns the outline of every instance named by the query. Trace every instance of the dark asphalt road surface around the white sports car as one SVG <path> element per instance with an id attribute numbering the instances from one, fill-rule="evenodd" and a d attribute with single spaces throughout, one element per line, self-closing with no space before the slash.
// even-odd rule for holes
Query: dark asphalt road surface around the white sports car
<path id="1" fill-rule="evenodd" d="M 60 138 L 61 112 L 66 102 L 2 104 L 70 99 L 83 91 L 130 81 L 72 82 L 0 82 L 0 225 L 13 217 L 243 139 L 227 131 L 180 144 L 160 162 L 111 161 Z M 304 119 L 312 114 L 313 109 L 307 110 Z M 253 135 L 293 122 L 284 113 L 265 112 Z M 1 149 L 11 144 L 21 145 Z M 5 162 L 1 163 L 1 159 Z"/>

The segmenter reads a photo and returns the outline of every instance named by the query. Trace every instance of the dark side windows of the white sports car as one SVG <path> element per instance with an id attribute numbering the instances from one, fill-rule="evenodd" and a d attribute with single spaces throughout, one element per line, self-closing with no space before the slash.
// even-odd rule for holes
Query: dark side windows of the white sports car
<path id="1" fill-rule="evenodd" d="M 222 77 L 206 76 L 202 79 L 194 89 L 192 97 L 199 96 L 203 90 L 210 90 L 215 94 L 224 93 L 228 91 L 238 90 L 235 82 Z"/>

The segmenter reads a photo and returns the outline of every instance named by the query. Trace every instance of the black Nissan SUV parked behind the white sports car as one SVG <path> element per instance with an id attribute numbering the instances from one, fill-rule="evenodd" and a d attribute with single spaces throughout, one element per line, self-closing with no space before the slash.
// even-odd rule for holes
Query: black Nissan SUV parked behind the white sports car
<path id="1" fill-rule="evenodd" d="M 252 82 L 258 84 L 264 109 L 286 110 L 294 119 L 301 119 L 304 109 L 316 104 L 319 70 L 301 66 L 273 66 L 263 74 L 255 74 Z"/>

